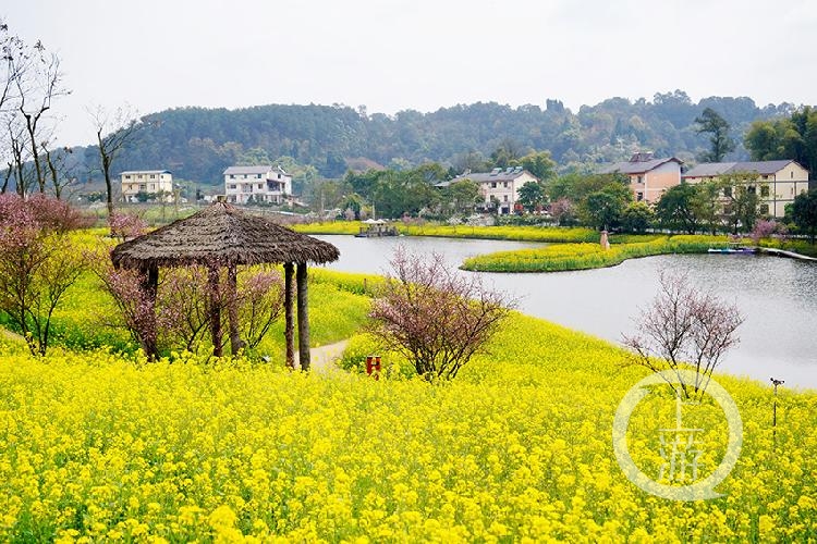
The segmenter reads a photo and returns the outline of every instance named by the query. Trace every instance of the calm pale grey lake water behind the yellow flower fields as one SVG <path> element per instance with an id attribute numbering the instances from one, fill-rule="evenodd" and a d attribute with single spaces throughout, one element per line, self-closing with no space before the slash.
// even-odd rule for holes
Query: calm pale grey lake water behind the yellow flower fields
<path id="1" fill-rule="evenodd" d="M 436 251 L 458 267 L 490 251 L 540 244 L 454 238 L 355 238 L 317 236 L 341 251 L 329 265 L 349 272 L 383 274 L 398 245 L 414 252 Z M 524 313 L 620 342 L 634 332 L 632 319 L 658 289 L 662 268 L 688 272 L 700 287 L 734 301 L 746 320 L 741 344 L 723 361 L 734 374 L 786 386 L 817 388 L 817 264 L 763 256 L 683 255 L 634 259 L 599 270 L 542 274 L 479 273 L 499 290 L 520 298 Z M 472 274 L 473 272 L 462 272 Z"/>

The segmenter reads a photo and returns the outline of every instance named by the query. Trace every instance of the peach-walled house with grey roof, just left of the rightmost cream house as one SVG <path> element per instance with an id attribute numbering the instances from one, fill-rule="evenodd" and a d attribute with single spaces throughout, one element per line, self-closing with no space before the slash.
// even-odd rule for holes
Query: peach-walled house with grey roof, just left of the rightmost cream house
<path id="1" fill-rule="evenodd" d="M 681 183 L 682 164 L 675 157 L 654 159 L 653 153 L 635 153 L 629 161 L 605 165 L 598 172 L 626 175 L 635 200 L 654 203 L 667 189 Z"/>

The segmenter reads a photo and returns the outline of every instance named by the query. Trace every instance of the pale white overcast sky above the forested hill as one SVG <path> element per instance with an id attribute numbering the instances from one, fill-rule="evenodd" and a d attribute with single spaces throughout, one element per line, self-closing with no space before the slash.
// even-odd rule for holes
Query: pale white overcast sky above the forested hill
<path id="1" fill-rule="evenodd" d="M 8 0 L 0 17 L 60 55 L 69 145 L 96 104 L 817 103 L 815 0 Z"/>

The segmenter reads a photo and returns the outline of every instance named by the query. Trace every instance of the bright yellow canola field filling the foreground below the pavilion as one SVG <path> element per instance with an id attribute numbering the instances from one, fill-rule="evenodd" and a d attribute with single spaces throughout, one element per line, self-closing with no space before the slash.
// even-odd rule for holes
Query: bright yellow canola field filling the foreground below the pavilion
<path id="1" fill-rule="evenodd" d="M 722 497 L 672 502 L 618 467 L 613 417 L 644 372 L 610 344 L 514 313 L 442 384 L 402 378 L 390 354 L 380 381 L 354 372 L 355 354 L 376 349 L 355 336 L 352 372 L 300 373 L 108 349 L 33 358 L 0 339 L 0 539 L 817 539 L 815 392 L 779 392 L 775 435 L 771 390 L 719 375 L 743 418 L 741 456 Z M 660 465 L 659 400 L 631 418 L 645 471 Z M 695 416 L 710 431 L 702 470 L 719 461 L 719 416 Z"/>

